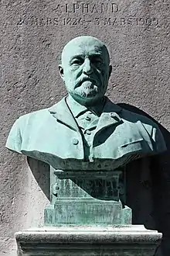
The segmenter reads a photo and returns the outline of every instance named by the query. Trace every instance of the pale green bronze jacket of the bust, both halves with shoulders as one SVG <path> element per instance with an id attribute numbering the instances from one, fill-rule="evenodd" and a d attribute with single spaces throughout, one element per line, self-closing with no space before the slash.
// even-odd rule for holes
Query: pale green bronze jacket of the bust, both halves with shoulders
<path id="1" fill-rule="evenodd" d="M 109 99 L 97 123 L 86 162 L 82 136 L 66 98 L 63 98 L 49 109 L 17 119 L 6 147 L 44 161 L 53 168 L 67 170 L 113 170 L 134 156 L 143 157 L 165 150 L 165 142 L 155 123 L 145 116 L 121 109 Z"/>

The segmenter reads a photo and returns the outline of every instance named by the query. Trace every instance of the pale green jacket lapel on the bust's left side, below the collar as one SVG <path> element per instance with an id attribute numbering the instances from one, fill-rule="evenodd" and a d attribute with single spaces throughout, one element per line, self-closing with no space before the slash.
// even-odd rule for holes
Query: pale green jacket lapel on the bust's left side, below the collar
<path id="1" fill-rule="evenodd" d="M 64 97 L 60 102 L 56 103 L 56 105 L 49 108 L 49 112 L 54 118 L 56 118 L 57 122 L 63 123 L 72 130 L 79 131 L 76 120 L 66 104 L 66 97 Z"/>

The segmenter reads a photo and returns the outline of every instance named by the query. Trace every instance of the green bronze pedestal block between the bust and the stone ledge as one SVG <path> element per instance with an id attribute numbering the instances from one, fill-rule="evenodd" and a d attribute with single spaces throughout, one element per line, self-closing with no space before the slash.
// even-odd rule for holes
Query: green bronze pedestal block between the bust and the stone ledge
<path id="1" fill-rule="evenodd" d="M 45 226 L 129 225 L 125 171 L 61 171 L 51 168 L 51 204 Z"/>

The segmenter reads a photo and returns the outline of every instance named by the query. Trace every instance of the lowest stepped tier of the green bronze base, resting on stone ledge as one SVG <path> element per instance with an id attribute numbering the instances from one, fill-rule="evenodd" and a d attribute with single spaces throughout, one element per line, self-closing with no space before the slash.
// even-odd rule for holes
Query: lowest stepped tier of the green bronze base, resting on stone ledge
<path id="1" fill-rule="evenodd" d="M 46 226 L 63 225 L 129 225 L 131 208 L 121 202 L 101 200 L 58 200 L 44 211 Z"/>

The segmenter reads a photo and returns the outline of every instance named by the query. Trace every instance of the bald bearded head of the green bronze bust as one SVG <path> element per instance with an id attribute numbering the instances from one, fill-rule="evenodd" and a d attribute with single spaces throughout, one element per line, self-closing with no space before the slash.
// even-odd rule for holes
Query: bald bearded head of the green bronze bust
<path id="1" fill-rule="evenodd" d="M 111 66 L 107 47 L 92 36 L 79 36 L 63 48 L 59 74 L 67 92 L 83 105 L 103 98 Z"/>

